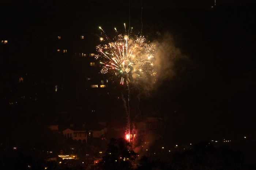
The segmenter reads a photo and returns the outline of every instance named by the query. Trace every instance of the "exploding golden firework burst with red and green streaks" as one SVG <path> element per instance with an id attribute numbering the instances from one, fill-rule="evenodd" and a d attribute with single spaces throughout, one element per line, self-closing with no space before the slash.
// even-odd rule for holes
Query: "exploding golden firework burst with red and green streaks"
<path id="1" fill-rule="evenodd" d="M 98 55 L 95 56 L 102 64 L 101 73 L 112 73 L 120 81 L 120 84 L 129 86 L 131 79 L 139 80 L 148 76 L 155 76 L 154 54 L 155 45 L 146 43 L 146 38 L 141 35 L 124 35 L 118 33 L 110 39 L 101 27 L 100 41 L 98 45 Z M 126 31 L 125 31 L 126 32 Z"/>

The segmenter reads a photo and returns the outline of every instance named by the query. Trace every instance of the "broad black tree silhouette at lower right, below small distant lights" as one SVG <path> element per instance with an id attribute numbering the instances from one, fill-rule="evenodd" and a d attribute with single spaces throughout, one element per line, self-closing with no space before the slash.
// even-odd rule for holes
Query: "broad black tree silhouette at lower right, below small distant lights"
<path id="1" fill-rule="evenodd" d="M 191 150 L 175 154 L 172 163 L 177 170 L 240 170 L 244 166 L 240 151 L 233 151 L 228 146 L 216 148 L 208 142 L 200 142 Z"/>

